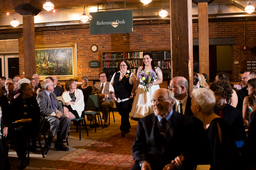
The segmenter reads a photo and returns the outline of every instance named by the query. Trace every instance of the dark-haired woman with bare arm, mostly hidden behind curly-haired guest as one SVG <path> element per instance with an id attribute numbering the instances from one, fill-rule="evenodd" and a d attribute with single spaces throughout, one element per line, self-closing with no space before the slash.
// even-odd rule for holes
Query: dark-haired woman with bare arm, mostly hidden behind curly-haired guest
<path id="1" fill-rule="evenodd" d="M 226 81 L 226 82 L 230 83 L 228 80 L 228 74 L 225 72 L 220 72 L 220 73 L 216 74 L 215 81 Z M 232 83 L 230 83 L 230 84 L 232 84 Z M 230 102 L 228 101 L 228 103 L 233 107 L 237 106 L 238 97 L 236 94 L 236 88 L 232 88 L 232 97 L 230 98 Z"/>

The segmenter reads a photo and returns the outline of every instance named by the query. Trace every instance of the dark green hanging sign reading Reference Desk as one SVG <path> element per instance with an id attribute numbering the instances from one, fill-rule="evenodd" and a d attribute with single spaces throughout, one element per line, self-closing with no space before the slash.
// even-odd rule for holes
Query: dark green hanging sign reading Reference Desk
<path id="1" fill-rule="evenodd" d="M 133 10 L 90 12 L 90 35 L 133 33 Z"/>

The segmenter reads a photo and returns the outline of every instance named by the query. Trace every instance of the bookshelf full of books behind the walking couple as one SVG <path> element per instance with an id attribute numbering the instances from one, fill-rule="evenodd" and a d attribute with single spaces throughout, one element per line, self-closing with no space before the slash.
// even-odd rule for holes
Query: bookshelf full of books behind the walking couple
<path id="1" fill-rule="evenodd" d="M 118 71 L 117 63 L 121 59 L 126 59 L 131 68 L 130 71 L 137 74 L 138 67 L 143 65 L 143 52 L 151 52 L 154 62 L 163 72 L 163 78 L 171 78 L 171 52 L 170 50 L 154 50 L 154 49 L 140 49 L 140 50 L 123 50 L 123 51 L 102 51 L 102 67 L 108 75 L 112 78 L 113 74 Z"/>

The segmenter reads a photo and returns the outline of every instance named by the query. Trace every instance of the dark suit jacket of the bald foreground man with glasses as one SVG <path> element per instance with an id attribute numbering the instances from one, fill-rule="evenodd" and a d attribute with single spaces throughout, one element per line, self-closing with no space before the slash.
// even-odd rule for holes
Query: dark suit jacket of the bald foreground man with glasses
<path id="1" fill-rule="evenodd" d="M 175 110 L 170 119 L 173 135 L 163 149 L 159 144 L 157 116 L 152 113 L 138 121 L 137 135 L 132 148 L 135 163 L 139 164 L 144 160 L 150 163 L 152 169 L 163 169 L 180 154 L 189 153 L 193 141 L 193 120 Z"/>

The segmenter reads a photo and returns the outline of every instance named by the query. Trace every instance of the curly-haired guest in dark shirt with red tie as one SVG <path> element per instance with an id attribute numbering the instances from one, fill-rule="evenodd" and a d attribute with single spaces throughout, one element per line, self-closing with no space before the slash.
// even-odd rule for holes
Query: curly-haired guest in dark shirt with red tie
<path id="1" fill-rule="evenodd" d="M 238 109 L 227 104 L 232 96 L 230 84 L 226 81 L 217 81 L 211 84 L 210 89 L 214 92 L 216 98 L 213 112 L 228 122 L 233 138 L 236 140 L 236 146 L 241 148 L 246 139 L 243 116 Z"/>

